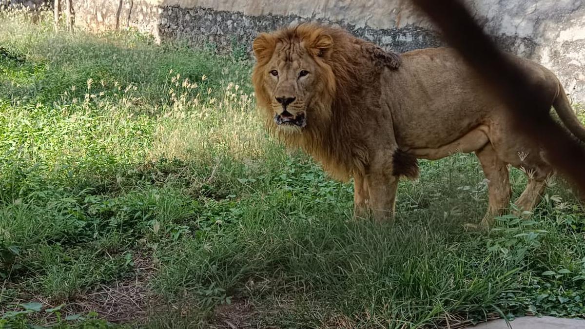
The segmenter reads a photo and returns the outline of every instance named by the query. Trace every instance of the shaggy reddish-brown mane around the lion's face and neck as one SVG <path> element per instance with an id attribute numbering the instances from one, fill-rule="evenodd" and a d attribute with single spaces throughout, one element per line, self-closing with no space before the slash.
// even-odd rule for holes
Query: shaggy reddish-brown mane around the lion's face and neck
<path id="1" fill-rule="evenodd" d="M 328 35 L 332 47 L 321 53 L 319 37 Z M 278 43 L 302 42 L 312 52 L 316 63 L 322 68 L 320 78 L 326 88 L 314 98 L 314 108 L 309 109 L 309 124 L 302 133 L 287 133 L 277 129 L 273 121 L 269 92 L 264 88 L 264 71 Z M 315 49 L 311 49 L 314 47 Z M 257 63 L 252 74 L 252 83 L 260 113 L 271 133 L 288 146 L 300 147 L 320 162 L 331 176 L 347 180 L 353 173 L 364 173 L 369 162 L 371 132 L 363 127 L 366 107 L 364 97 L 376 102 L 380 94 L 377 83 L 384 67 L 397 70 L 400 56 L 387 52 L 373 43 L 357 39 L 345 30 L 302 24 L 280 30 L 271 35 L 261 34 L 254 43 Z M 377 90 L 369 90 L 377 88 Z M 371 104 L 371 103 L 370 103 Z"/>

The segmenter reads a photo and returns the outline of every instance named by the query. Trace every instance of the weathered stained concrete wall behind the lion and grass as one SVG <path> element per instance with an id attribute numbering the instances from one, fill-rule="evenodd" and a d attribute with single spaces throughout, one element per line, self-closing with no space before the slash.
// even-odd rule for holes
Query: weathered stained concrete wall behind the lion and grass
<path id="1" fill-rule="evenodd" d="M 258 32 L 317 20 L 398 52 L 443 43 L 405 0 L 74 0 L 76 23 L 249 51 Z M 549 67 L 585 101 L 585 0 L 466 0 L 504 49 Z"/>

